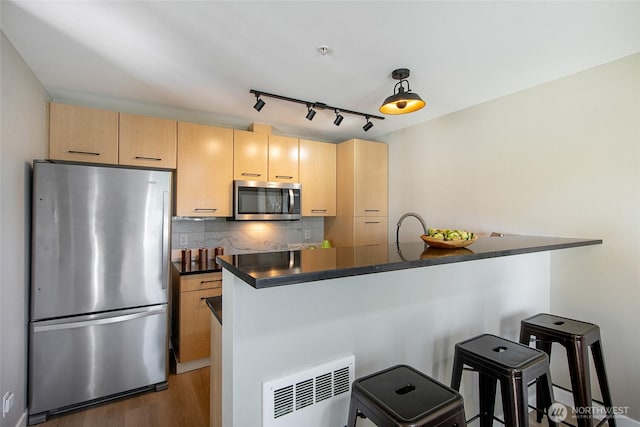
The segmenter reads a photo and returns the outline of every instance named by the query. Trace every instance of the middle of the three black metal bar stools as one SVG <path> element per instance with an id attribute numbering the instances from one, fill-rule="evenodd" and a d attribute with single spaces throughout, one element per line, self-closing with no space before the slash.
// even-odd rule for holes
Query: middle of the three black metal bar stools
<path id="1" fill-rule="evenodd" d="M 548 408 L 553 403 L 549 357 L 543 351 L 483 334 L 456 344 L 451 374 L 451 387 L 455 390 L 460 390 L 465 365 L 479 374 L 480 383 L 480 413 L 469 423 L 480 418 L 481 427 L 493 425 L 498 381 L 504 424 L 509 427 L 529 425 L 528 384 L 531 381 L 537 379 L 544 387 L 545 392 L 538 395 L 542 399 L 541 407 Z M 556 426 L 551 419 L 548 421 L 550 426 Z"/>

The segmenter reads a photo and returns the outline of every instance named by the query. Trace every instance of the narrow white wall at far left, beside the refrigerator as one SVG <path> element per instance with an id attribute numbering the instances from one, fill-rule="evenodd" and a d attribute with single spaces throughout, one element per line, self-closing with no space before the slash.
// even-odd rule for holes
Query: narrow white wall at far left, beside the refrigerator
<path id="1" fill-rule="evenodd" d="M 0 393 L 15 395 L 0 426 L 26 421 L 31 161 L 45 156 L 47 94 L 0 32 Z"/>

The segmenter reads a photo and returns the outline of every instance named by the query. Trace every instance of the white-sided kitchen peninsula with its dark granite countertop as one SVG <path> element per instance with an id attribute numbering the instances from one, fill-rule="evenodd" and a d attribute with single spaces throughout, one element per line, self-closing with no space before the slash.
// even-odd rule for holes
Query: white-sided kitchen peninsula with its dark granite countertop
<path id="1" fill-rule="evenodd" d="M 509 235 L 451 250 L 415 242 L 219 257 L 222 424 L 344 425 L 348 393 L 322 410 L 312 399 L 274 414 L 263 383 L 350 356 L 355 377 L 406 363 L 448 383 L 456 342 L 517 339 L 521 319 L 549 311 L 549 251 L 601 243 Z"/>

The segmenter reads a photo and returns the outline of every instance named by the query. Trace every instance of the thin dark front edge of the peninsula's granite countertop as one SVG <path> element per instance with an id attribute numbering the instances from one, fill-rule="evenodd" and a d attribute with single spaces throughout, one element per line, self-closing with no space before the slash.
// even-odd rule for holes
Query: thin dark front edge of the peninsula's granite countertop
<path id="1" fill-rule="evenodd" d="M 452 255 L 448 257 L 427 258 L 411 261 L 392 262 L 385 264 L 367 265 L 361 267 L 349 267 L 343 269 L 333 269 L 324 271 L 313 271 L 309 273 L 282 274 L 274 277 L 263 277 L 256 279 L 229 263 L 224 258 L 218 258 L 218 263 L 233 273 L 238 278 L 245 281 L 256 289 L 271 288 L 275 286 L 295 285 L 305 282 L 315 282 L 318 280 L 337 279 L 341 277 L 360 276 L 364 274 L 382 273 L 387 271 L 406 270 L 411 268 L 428 267 L 431 265 L 452 264 L 457 262 L 474 261 L 479 259 L 499 258 L 504 256 L 522 255 L 535 252 L 546 252 L 558 249 L 569 249 L 581 246 L 591 246 L 602 244 L 602 239 L 585 239 L 574 242 L 554 243 L 541 246 L 526 246 L 505 250 L 496 250 L 482 253 L 472 253 L 464 255 Z"/>

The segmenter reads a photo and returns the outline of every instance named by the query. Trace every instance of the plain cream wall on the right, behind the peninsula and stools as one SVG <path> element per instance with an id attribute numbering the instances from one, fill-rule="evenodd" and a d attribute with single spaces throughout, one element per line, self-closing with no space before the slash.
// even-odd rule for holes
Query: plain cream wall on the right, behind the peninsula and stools
<path id="1" fill-rule="evenodd" d="M 390 239 L 415 211 L 428 226 L 604 240 L 552 252 L 551 310 L 600 325 L 614 404 L 640 419 L 640 54 L 380 139 Z M 417 239 L 406 224 L 400 240 Z"/>

